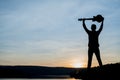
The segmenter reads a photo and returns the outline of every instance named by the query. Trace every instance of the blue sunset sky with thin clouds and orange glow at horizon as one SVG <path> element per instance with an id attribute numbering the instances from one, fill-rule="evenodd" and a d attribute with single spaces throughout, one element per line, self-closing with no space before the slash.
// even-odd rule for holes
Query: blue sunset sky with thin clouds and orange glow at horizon
<path id="1" fill-rule="evenodd" d="M 0 0 L 0 65 L 86 67 L 88 35 L 78 18 L 97 14 L 105 18 L 102 62 L 120 62 L 120 0 Z"/>

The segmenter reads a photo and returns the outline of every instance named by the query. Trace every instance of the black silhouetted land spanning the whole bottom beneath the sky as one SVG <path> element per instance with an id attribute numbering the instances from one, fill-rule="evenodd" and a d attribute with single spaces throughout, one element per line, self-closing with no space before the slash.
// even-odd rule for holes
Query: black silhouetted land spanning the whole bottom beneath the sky
<path id="1" fill-rule="evenodd" d="M 79 73 L 77 73 L 79 72 Z M 119 80 L 120 63 L 92 67 L 90 73 L 86 68 L 43 67 L 43 66 L 0 66 L 1 79 L 89 79 Z"/>

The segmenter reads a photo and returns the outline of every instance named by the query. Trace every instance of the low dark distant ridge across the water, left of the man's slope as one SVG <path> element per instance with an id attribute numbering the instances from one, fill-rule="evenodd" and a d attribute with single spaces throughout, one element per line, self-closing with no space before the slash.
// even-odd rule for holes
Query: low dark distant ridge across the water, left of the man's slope
<path id="1" fill-rule="evenodd" d="M 74 68 L 44 66 L 0 66 L 0 78 L 48 78 L 69 76 Z M 53 76 L 54 75 L 54 76 Z"/>

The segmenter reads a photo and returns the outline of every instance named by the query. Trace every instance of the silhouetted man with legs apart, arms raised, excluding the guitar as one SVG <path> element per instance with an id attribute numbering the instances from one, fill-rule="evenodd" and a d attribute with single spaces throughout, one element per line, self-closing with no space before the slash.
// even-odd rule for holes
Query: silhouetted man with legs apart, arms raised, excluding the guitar
<path id="1" fill-rule="evenodd" d="M 103 20 L 104 21 L 104 20 Z M 103 21 L 101 22 L 101 26 L 99 28 L 98 31 L 96 31 L 96 25 L 92 24 L 91 25 L 91 30 L 88 30 L 86 25 L 85 25 L 85 19 L 83 19 L 83 28 L 85 29 L 85 31 L 88 34 L 88 38 L 89 38 L 89 43 L 88 43 L 88 65 L 87 65 L 87 69 L 89 70 L 91 68 L 91 62 L 92 62 L 92 57 L 93 57 L 93 53 L 95 53 L 99 66 L 102 66 L 102 61 L 100 58 L 100 50 L 99 50 L 99 34 L 103 29 Z"/>

